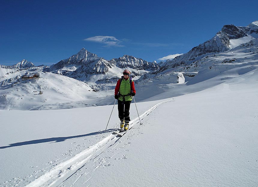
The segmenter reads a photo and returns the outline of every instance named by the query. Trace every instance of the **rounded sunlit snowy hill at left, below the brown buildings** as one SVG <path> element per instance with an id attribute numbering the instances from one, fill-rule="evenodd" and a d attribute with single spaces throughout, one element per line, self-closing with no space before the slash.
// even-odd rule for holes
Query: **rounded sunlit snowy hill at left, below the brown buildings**
<path id="1" fill-rule="evenodd" d="M 0 87 L 0 109 L 50 110 L 95 106 L 87 99 L 100 95 L 85 83 L 53 73 L 40 73 L 39 79 L 20 80 Z M 43 94 L 39 94 L 39 92 Z M 94 102 L 94 101 L 93 101 Z"/>

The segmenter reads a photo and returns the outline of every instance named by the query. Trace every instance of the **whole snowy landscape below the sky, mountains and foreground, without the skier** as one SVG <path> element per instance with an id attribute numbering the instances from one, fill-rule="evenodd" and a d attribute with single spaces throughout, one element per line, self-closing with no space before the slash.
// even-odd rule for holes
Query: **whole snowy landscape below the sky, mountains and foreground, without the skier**
<path id="1" fill-rule="evenodd" d="M 1 65 L 0 186 L 256 187 L 258 21 L 160 64 L 82 48 L 52 66 Z M 117 137 L 123 69 L 137 103 Z"/>

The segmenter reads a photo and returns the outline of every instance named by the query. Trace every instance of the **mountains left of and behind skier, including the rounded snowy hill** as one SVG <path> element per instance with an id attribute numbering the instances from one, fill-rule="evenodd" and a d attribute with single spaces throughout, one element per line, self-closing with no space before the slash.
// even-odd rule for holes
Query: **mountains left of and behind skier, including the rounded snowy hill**
<path id="1" fill-rule="evenodd" d="M 1 66 L 0 109 L 49 110 L 110 104 L 113 98 L 105 96 L 113 95 L 113 91 L 105 90 L 114 89 L 125 68 L 138 79 L 158 69 L 158 65 L 128 55 L 107 61 L 83 48 L 49 67 L 34 66 L 26 60 L 13 66 Z M 40 79 L 21 78 L 35 74 L 39 74 Z M 100 89 L 104 90 L 101 94 L 93 92 Z M 39 96 L 39 91 L 44 94 Z"/>

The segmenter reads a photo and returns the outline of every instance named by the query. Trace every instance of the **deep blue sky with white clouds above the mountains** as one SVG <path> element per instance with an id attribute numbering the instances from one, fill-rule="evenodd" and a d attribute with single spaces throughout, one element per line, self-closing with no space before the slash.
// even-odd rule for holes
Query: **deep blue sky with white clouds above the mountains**
<path id="1" fill-rule="evenodd" d="M 51 65 L 85 48 L 106 60 L 182 54 L 223 25 L 258 20 L 258 1 L 0 0 L 0 64 Z"/>

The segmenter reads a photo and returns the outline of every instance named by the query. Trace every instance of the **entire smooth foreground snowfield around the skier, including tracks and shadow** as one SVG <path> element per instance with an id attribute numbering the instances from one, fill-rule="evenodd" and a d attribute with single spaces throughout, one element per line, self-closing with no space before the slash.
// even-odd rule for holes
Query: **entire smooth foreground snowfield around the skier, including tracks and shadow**
<path id="1" fill-rule="evenodd" d="M 112 105 L 1 111 L 1 186 L 256 186 L 257 80 L 132 103 L 122 138 Z"/>

